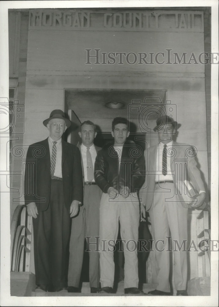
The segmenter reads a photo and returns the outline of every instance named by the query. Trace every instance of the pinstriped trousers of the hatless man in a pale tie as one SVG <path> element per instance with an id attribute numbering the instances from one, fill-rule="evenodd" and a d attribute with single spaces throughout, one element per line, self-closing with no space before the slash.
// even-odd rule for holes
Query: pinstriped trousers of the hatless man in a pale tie
<path id="1" fill-rule="evenodd" d="M 99 235 L 99 208 L 102 191 L 97 185 L 85 185 L 83 206 L 80 212 L 72 218 L 70 239 L 68 285 L 79 287 L 84 255 L 84 239 L 89 236 L 89 280 L 90 287 L 98 288 L 100 280 L 99 253 L 96 245 Z"/>

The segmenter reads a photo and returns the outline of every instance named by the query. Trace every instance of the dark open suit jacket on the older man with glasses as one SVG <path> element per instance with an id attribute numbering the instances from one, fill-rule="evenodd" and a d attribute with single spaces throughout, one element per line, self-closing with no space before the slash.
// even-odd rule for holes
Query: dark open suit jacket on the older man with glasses
<path id="1" fill-rule="evenodd" d="M 72 200 L 82 202 L 82 170 L 78 148 L 62 142 L 62 178 L 65 206 Z M 50 149 L 48 138 L 28 148 L 24 178 L 25 203 L 35 202 L 39 211 L 45 211 L 50 201 Z"/>

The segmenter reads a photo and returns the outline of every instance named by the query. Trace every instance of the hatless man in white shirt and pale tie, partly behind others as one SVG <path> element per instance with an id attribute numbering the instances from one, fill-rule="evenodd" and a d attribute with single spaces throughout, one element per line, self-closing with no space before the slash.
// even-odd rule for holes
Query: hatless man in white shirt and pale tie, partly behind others
<path id="1" fill-rule="evenodd" d="M 91 293 L 99 288 L 100 269 L 98 235 L 101 189 L 94 180 L 94 163 L 100 147 L 94 145 L 97 135 L 95 124 L 85 121 L 81 124 L 79 135 L 82 143 L 78 146 L 81 153 L 81 166 L 84 183 L 83 204 L 77 216 L 72 219 L 70 238 L 70 258 L 68 272 L 68 291 L 79 292 L 80 276 L 84 255 L 84 240 L 87 238 L 89 251 L 89 281 Z M 97 237 L 97 238 L 95 238 Z M 97 243 L 92 244 L 92 243 Z"/>

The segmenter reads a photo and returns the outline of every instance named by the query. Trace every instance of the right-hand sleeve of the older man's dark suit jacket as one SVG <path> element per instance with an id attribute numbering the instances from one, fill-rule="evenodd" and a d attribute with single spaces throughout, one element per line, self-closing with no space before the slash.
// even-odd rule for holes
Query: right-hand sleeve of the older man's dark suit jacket
<path id="1" fill-rule="evenodd" d="M 73 158 L 73 172 L 72 172 L 72 200 L 78 200 L 82 203 L 83 200 L 83 181 L 81 169 L 80 151 L 76 147 Z"/>

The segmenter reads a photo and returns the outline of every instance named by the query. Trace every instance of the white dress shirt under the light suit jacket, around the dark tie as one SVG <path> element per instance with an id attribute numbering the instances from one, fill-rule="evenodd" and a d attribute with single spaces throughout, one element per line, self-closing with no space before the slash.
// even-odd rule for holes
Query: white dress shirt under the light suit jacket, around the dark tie
<path id="1" fill-rule="evenodd" d="M 162 174 L 162 160 L 163 160 L 164 143 L 159 142 L 158 144 L 155 182 L 164 181 L 164 180 L 173 180 L 173 175 L 172 175 L 172 171 L 170 168 L 170 155 L 168 155 L 168 150 L 172 147 L 172 145 L 173 145 L 173 141 L 170 141 L 169 143 L 166 144 L 167 146 L 167 174 L 166 176 L 164 176 Z"/>

